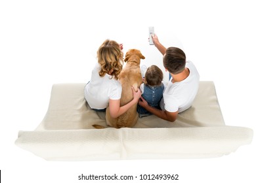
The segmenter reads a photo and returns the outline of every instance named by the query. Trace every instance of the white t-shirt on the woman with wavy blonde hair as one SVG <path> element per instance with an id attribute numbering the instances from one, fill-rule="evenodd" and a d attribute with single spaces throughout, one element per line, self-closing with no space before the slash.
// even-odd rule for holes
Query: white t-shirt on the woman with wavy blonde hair
<path id="1" fill-rule="evenodd" d="M 85 86 L 85 100 L 91 108 L 103 109 L 108 107 L 109 99 L 121 99 L 121 84 L 112 76 L 98 75 L 100 65 L 97 63 L 92 71 L 91 81 Z"/>

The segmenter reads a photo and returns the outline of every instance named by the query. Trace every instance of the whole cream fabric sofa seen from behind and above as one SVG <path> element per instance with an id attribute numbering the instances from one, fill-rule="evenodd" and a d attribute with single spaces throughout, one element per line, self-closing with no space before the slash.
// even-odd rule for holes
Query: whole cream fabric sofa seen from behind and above
<path id="1" fill-rule="evenodd" d="M 253 130 L 224 124 L 215 86 L 200 81 L 196 99 L 171 123 L 152 115 L 133 128 L 106 126 L 83 97 L 85 84 L 54 84 L 47 114 L 34 131 L 19 131 L 16 145 L 54 161 L 219 157 L 250 144 Z"/>

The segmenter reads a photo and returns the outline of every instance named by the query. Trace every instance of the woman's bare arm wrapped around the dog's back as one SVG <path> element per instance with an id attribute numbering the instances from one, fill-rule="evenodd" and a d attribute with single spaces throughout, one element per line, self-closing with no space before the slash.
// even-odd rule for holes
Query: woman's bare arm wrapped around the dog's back
<path id="1" fill-rule="evenodd" d="M 112 118 L 117 118 L 118 116 L 121 116 L 121 114 L 125 113 L 129 108 L 138 103 L 141 96 L 140 90 L 138 90 L 138 92 L 135 92 L 133 87 L 131 88 L 131 90 L 133 90 L 133 100 L 126 105 L 123 105 L 122 107 L 120 107 L 120 99 L 109 100 L 110 116 Z"/>

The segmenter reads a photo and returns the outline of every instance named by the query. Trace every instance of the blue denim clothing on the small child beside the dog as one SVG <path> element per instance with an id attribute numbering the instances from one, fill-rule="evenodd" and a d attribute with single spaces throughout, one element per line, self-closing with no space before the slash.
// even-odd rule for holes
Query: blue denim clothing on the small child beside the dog
<path id="1" fill-rule="evenodd" d="M 144 92 L 142 97 L 147 101 L 148 105 L 151 107 L 160 108 L 160 101 L 163 97 L 163 89 L 164 86 L 161 84 L 160 86 L 144 86 Z M 144 107 L 140 105 L 137 106 L 137 112 L 139 112 L 139 117 L 142 118 L 144 116 L 149 116 L 152 113 L 148 112 Z"/>

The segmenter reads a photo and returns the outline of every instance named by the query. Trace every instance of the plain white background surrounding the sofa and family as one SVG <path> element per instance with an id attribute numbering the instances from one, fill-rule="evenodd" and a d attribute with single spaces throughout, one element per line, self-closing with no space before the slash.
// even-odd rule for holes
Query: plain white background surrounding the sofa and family
<path id="1" fill-rule="evenodd" d="M 43 120 L 54 83 L 89 80 L 105 39 L 123 43 L 124 52 L 137 48 L 142 64 L 161 67 L 148 26 L 166 47 L 184 50 L 201 80 L 215 82 L 226 125 L 255 131 L 255 17 L 247 0 L 0 1 L 1 180 L 159 173 L 179 174 L 177 182 L 256 182 L 254 141 L 221 158 L 81 162 L 45 161 L 14 145 L 19 130 Z"/>

